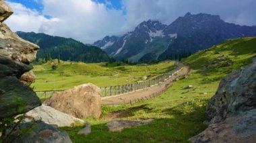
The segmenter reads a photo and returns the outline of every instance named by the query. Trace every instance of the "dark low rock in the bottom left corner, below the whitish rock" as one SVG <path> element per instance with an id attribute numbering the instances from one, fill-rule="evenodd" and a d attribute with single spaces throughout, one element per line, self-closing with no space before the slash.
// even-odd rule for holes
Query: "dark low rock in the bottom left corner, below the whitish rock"
<path id="1" fill-rule="evenodd" d="M 31 132 L 27 133 L 20 133 L 20 130 L 28 130 L 32 129 Z M 8 138 L 5 142 L 12 142 L 12 143 L 18 143 L 18 142 L 57 142 L 57 143 L 71 143 L 69 136 L 66 132 L 58 130 L 54 126 L 44 124 L 42 122 L 31 124 L 31 123 L 25 123 L 20 124 L 11 134 L 11 136 Z"/>

